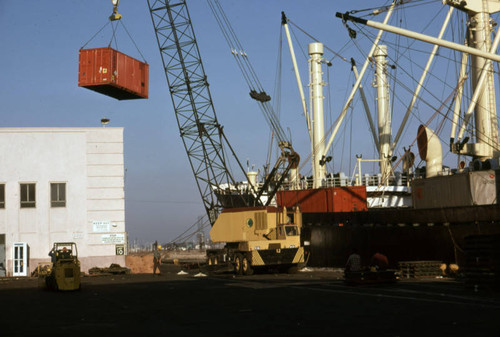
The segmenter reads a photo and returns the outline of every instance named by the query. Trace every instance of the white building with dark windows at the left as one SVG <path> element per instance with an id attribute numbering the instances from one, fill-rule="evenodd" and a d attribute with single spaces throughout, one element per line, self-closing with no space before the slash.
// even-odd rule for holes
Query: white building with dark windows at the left
<path id="1" fill-rule="evenodd" d="M 81 269 L 125 266 L 123 128 L 0 128 L 0 276 L 75 242 Z"/>

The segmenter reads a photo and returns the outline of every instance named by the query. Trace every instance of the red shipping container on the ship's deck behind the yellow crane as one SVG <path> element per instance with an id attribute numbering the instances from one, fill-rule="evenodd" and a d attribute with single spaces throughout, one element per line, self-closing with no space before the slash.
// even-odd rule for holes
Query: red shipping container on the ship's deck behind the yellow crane
<path id="1" fill-rule="evenodd" d="M 279 191 L 277 202 L 287 208 L 300 205 L 303 213 L 355 212 L 368 210 L 366 187 L 329 187 Z"/>

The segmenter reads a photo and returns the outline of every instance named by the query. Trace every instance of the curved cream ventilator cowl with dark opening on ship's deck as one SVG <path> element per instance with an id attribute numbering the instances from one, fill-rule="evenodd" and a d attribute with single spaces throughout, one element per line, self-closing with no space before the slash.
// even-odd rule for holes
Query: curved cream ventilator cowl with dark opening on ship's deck
<path id="1" fill-rule="evenodd" d="M 443 170 L 443 150 L 439 138 L 431 129 L 420 125 L 418 127 L 417 144 L 420 158 L 427 163 L 425 176 L 427 178 L 437 176 Z"/>

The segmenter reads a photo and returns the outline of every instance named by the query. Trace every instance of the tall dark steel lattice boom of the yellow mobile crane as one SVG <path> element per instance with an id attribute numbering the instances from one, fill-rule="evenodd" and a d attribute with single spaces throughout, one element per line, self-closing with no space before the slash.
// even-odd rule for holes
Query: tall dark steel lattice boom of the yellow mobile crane
<path id="1" fill-rule="evenodd" d="M 217 121 L 186 1 L 148 0 L 148 6 L 180 135 L 213 225 L 222 208 L 260 202 L 255 192 L 230 190 L 237 182 L 226 164 L 225 148 L 246 173 Z"/>

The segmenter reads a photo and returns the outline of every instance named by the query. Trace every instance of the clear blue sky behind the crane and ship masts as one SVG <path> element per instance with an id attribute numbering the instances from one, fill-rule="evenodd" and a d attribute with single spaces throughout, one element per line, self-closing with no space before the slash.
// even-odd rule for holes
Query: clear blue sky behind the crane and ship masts
<path id="1" fill-rule="evenodd" d="M 341 20 L 334 17 L 335 12 L 375 7 L 374 1 L 368 0 L 220 1 L 261 82 L 271 93 L 275 85 L 281 11 L 328 47 L 340 51 L 350 40 Z M 378 1 L 377 5 L 385 3 Z M 440 1 L 436 3 L 438 11 Z M 206 1 L 193 0 L 188 5 L 219 122 L 224 125 L 240 161 L 245 165 L 248 160 L 255 168 L 261 168 L 266 162 L 269 127 L 257 104 L 250 99 Z M 146 1 L 122 0 L 119 12 L 149 63 L 149 99 L 116 101 L 77 85 L 78 50 L 107 22 L 111 12 L 111 1 L 107 0 L 0 0 L 0 126 L 95 127 L 100 126 L 101 118 L 108 117 L 109 126 L 124 127 L 129 239 L 165 242 L 191 226 L 204 210 L 179 137 Z M 418 16 L 400 19 L 410 24 L 418 21 Z M 307 51 L 307 43 L 312 41 L 294 31 L 301 44 L 295 48 L 302 79 L 306 81 L 307 62 L 301 48 Z M 110 37 L 108 28 L 86 47 L 107 46 Z M 358 41 L 366 52 L 367 39 L 360 35 Z M 290 130 L 296 150 L 306 158 L 310 145 L 305 121 L 288 47 L 283 48 L 282 125 Z M 118 32 L 118 50 L 140 58 L 124 31 Z M 355 57 L 361 68 L 363 59 L 358 46 L 350 43 L 342 53 L 347 58 Z M 333 55 L 326 57 L 331 59 Z M 327 125 L 337 117 L 352 85 L 350 65 L 334 59 L 328 76 L 333 108 Z M 367 91 L 371 78 L 365 84 Z M 354 165 L 349 165 L 349 157 L 363 153 L 364 157 L 373 158 L 374 151 L 361 110 L 346 125 L 354 128 L 354 136 L 339 138 L 331 169 L 347 173 Z M 416 127 L 408 139 L 414 138 L 414 134 Z M 306 165 L 303 174 L 310 174 L 309 167 Z"/>

